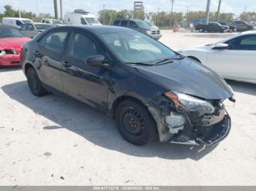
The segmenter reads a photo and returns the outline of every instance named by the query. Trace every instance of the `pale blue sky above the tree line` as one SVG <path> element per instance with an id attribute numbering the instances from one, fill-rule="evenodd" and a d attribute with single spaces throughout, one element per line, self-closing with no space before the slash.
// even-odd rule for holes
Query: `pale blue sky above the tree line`
<path id="1" fill-rule="evenodd" d="M 59 1 L 59 0 L 58 0 Z M 105 9 L 132 9 L 134 0 L 62 0 L 64 13 L 73 9 L 86 9 L 97 15 L 105 4 Z M 189 10 L 206 9 L 207 0 L 175 0 L 173 10 L 187 12 Z M 217 11 L 219 0 L 211 0 L 211 11 Z M 157 12 L 157 8 L 170 12 L 170 0 L 143 0 L 146 12 Z M 4 11 L 4 5 L 10 4 L 15 9 L 23 9 L 32 12 L 50 13 L 53 15 L 53 0 L 0 0 L 0 12 Z M 234 12 L 236 15 L 246 11 L 256 12 L 256 0 L 222 0 L 221 12 Z"/>

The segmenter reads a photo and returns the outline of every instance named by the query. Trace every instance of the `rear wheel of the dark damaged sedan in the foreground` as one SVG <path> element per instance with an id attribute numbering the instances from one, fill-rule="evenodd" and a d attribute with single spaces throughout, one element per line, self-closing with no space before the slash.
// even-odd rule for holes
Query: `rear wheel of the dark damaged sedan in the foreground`
<path id="1" fill-rule="evenodd" d="M 37 75 L 37 71 L 35 71 L 33 68 L 29 68 L 26 73 L 26 77 L 28 79 L 31 93 L 36 96 L 42 96 L 47 93 L 46 90 L 42 87 L 41 81 Z"/>

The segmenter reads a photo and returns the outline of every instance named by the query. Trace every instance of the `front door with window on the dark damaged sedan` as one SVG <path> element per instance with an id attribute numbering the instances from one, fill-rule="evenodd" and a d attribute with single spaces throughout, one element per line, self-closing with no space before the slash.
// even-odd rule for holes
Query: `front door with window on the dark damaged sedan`
<path id="1" fill-rule="evenodd" d="M 61 66 L 64 93 L 106 112 L 110 70 L 89 66 L 86 58 L 91 55 L 105 55 L 105 51 L 87 34 L 74 32 Z"/>

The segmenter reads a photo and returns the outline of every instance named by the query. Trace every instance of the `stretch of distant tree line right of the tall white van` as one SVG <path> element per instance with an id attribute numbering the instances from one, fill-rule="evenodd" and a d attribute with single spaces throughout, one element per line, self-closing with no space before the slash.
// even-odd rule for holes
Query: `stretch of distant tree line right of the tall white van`
<path id="1" fill-rule="evenodd" d="M 112 24 L 116 19 L 135 18 L 140 20 L 151 20 L 160 27 L 173 26 L 178 22 L 192 23 L 193 21 L 202 20 L 206 17 L 204 11 L 189 11 L 183 12 L 132 12 L 127 9 L 116 11 L 113 9 L 102 9 L 98 12 L 99 20 L 106 25 Z M 234 20 L 245 20 L 256 22 L 256 12 L 243 12 L 238 17 L 235 17 L 233 12 L 219 13 L 219 20 L 225 20 L 227 23 L 233 23 Z M 217 20 L 217 12 L 210 12 L 210 20 Z"/>

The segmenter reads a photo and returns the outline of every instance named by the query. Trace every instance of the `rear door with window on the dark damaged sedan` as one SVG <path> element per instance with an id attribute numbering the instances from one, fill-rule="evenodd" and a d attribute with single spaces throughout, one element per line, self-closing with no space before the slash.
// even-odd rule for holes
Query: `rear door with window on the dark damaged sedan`
<path id="1" fill-rule="evenodd" d="M 63 91 L 61 58 L 67 44 L 69 31 L 54 30 L 39 39 L 34 47 L 34 56 L 39 77 L 46 85 Z"/>

